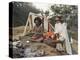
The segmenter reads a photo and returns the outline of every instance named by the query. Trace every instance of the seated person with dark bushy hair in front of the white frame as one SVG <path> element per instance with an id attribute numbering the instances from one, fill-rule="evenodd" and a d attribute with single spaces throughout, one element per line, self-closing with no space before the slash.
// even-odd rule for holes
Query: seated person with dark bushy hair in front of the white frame
<path id="1" fill-rule="evenodd" d="M 42 19 L 40 17 L 36 17 L 34 19 L 35 26 L 33 28 L 34 35 L 32 36 L 33 41 L 41 41 L 43 40 L 43 26 Z"/>

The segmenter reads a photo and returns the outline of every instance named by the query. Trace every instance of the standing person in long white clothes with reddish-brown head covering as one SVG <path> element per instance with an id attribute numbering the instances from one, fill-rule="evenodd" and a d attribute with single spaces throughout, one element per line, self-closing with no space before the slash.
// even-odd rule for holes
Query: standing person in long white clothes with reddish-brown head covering
<path id="1" fill-rule="evenodd" d="M 71 45 L 69 42 L 67 24 L 64 23 L 61 16 L 56 17 L 55 33 L 59 35 L 58 40 L 64 41 L 65 49 L 67 54 L 72 54 Z M 64 51 L 63 45 L 61 43 L 56 44 L 56 49 L 60 52 Z"/>

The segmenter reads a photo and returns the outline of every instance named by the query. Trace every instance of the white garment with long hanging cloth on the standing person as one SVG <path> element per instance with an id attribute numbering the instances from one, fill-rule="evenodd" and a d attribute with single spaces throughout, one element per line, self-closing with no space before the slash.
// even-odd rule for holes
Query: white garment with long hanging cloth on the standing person
<path id="1" fill-rule="evenodd" d="M 65 39 L 66 51 L 68 54 L 72 54 L 71 45 L 69 42 L 68 32 L 67 32 L 67 24 L 66 23 L 56 23 L 55 24 L 55 33 L 59 33 Z"/>

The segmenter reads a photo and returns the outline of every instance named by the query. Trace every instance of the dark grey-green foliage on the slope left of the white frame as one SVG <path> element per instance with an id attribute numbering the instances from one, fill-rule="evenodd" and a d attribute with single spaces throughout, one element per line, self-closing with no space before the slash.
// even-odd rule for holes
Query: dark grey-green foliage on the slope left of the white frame
<path id="1" fill-rule="evenodd" d="M 29 12 L 39 13 L 40 11 L 32 3 L 13 2 L 13 27 L 25 25 Z"/>

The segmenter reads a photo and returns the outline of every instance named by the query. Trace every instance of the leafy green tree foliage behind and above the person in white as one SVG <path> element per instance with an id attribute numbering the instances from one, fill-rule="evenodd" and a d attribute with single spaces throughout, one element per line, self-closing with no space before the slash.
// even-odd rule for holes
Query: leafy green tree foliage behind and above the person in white
<path id="1" fill-rule="evenodd" d="M 52 5 L 50 7 L 51 11 L 54 13 L 53 17 L 51 18 L 53 25 L 55 23 L 55 16 L 61 15 L 63 18 L 62 20 L 66 21 L 68 26 L 72 29 L 74 27 L 75 29 L 78 28 L 78 7 L 75 5 Z"/>

